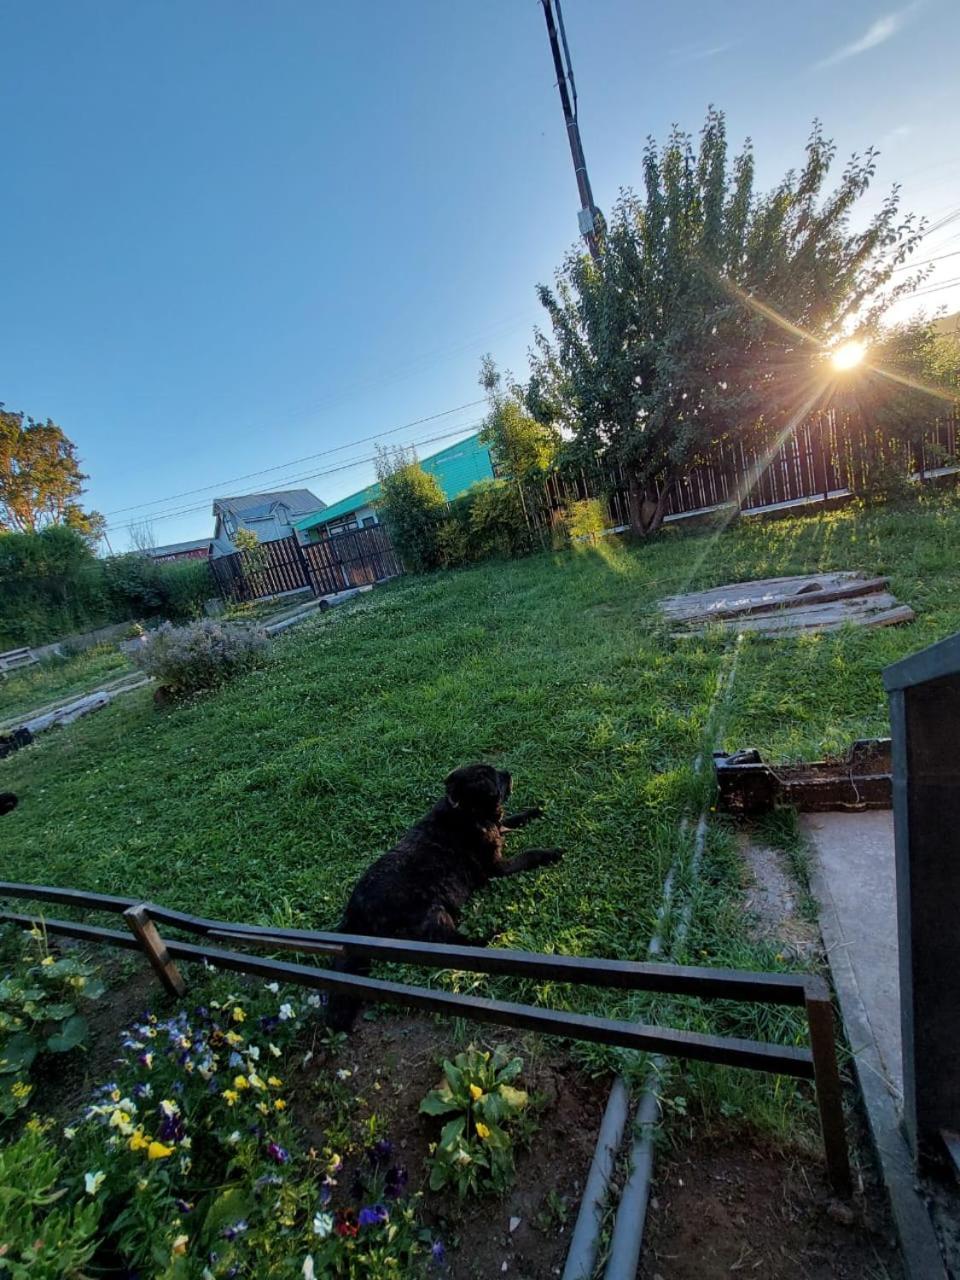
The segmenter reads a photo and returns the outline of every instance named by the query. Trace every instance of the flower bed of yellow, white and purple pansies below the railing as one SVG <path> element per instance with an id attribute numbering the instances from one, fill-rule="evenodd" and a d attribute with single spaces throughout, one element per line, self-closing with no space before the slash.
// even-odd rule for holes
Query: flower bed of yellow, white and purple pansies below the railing
<path id="1" fill-rule="evenodd" d="M 33 938 L 19 959 L 8 948 L 9 989 L 29 989 L 38 966 L 100 986 L 79 948 Z M 543 1064 L 522 1080 L 512 1051 L 456 1053 L 449 1027 L 372 1010 L 330 1037 L 321 997 L 273 983 L 198 970 L 177 1005 L 143 978 L 100 1002 L 70 1071 L 60 1055 L 20 1075 L 26 1110 L 0 1129 L 18 1192 L 0 1202 L 0 1276 L 397 1280 L 494 1274 L 506 1258 L 552 1274 L 595 1126 L 540 1132 L 557 1091 L 521 1085 L 549 1080 Z"/>

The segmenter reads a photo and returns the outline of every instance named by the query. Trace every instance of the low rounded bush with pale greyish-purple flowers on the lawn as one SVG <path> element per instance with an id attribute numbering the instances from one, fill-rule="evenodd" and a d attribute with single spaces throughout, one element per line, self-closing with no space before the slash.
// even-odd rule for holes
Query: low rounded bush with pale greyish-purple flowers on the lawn
<path id="1" fill-rule="evenodd" d="M 204 618 L 186 627 L 165 622 L 133 660 L 175 696 L 216 689 L 262 663 L 266 634 Z"/>

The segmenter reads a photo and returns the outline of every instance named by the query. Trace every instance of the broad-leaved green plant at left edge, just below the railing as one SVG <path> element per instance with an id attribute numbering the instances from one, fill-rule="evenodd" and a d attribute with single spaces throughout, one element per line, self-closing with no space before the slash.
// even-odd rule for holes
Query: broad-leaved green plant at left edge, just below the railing
<path id="1" fill-rule="evenodd" d="M 41 929 L 23 941 L 19 931 L 0 934 L 0 1119 L 27 1105 L 31 1068 L 42 1053 L 69 1053 L 88 1034 L 82 1002 L 106 989 L 96 965 L 79 955 L 54 956 Z"/>

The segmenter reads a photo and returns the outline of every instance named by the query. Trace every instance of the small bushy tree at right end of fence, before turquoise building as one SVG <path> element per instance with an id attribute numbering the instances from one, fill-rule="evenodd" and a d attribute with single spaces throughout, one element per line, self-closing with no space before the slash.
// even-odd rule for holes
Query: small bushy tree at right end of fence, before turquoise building
<path id="1" fill-rule="evenodd" d="M 378 451 L 376 476 L 376 509 L 404 568 L 417 573 L 438 568 L 439 530 L 447 512 L 439 480 L 424 471 L 415 453 L 402 448 Z"/>

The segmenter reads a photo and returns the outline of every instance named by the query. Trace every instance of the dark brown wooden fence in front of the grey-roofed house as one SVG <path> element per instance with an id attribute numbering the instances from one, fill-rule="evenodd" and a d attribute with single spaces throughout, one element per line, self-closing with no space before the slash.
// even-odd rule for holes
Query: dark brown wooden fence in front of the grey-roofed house
<path id="1" fill-rule="evenodd" d="M 381 525 L 335 534 L 301 547 L 296 534 L 210 561 L 227 600 L 259 600 L 284 591 L 335 595 L 353 586 L 383 582 L 403 572 Z"/>

